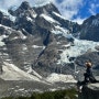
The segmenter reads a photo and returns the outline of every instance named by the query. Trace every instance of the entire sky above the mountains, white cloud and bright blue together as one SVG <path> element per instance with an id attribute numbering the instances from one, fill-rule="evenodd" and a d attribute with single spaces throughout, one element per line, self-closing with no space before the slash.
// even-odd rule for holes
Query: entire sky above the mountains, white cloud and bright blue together
<path id="1" fill-rule="evenodd" d="M 11 6 L 20 6 L 24 0 L 0 0 L 0 9 L 7 10 Z M 99 13 L 99 0 L 25 0 L 31 6 L 53 2 L 62 15 L 68 20 L 81 23 L 90 15 Z"/>

